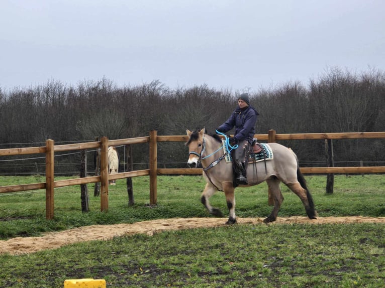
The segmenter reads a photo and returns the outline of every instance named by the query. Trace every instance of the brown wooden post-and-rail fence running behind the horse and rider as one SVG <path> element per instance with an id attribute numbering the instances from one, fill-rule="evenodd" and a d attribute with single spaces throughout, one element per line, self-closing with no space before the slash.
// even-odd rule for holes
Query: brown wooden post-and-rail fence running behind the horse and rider
<path id="1" fill-rule="evenodd" d="M 258 140 L 276 142 L 279 140 L 295 139 L 357 139 L 357 138 L 385 138 L 385 132 L 352 132 L 352 133 L 304 133 L 304 134 L 276 134 L 275 130 L 269 130 L 268 134 L 256 134 Z M 54 188 L 80 185 L 87 183 L 101 183 L 101 211 L 108 211 L 108 181 L 137 176 L 150 176 L 150 204 L 157 202 L 157 175 L 180 175 L 180 174 L 202 174 L 202 169 L 159 169 L 157 168 L 157 142 L 161 141 L 187 141 L 187 136 L 158 136 L 156 131 L 150 131 L 149 136 L 109 140 L 102 137 L 100 141 L 76 143 L 69 145 L 54 145 L 51 139 L 46 140 L 44 147 L 1 149 L 1 156 L 39 154 L 46 155 L 46 182 L 23 185 L 1 186 L 0 193 L 10 193 L 18 191 L 28 191 L 45 189 L 46 190 L 46 218 L 52 219 L 54 216 Z M 108 174 L 108 148 L 110 146 L 131 145 L 137 143 L 149 143 L 149 169 L 129 171 L 118 174 Z M 101 175 L 85 178 L 55 181 L 54 179 L 54 153 L 101 149 Z M 187 156 L 186 156 L 187 158 Z M 380 167 L 312 167 L 301 168 L 304 174 L 330 174 L 330 173 L 385 173 L 385 166 Z"/>

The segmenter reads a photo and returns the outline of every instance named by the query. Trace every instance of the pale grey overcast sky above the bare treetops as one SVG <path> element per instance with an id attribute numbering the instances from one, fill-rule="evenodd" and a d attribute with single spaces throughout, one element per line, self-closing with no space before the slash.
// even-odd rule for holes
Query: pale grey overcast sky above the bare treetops
<path id="1" fill-rule="evenodd" d="M 2 0 L 0 87 L 257 91 L 385 71 L 383 0 Z"/>

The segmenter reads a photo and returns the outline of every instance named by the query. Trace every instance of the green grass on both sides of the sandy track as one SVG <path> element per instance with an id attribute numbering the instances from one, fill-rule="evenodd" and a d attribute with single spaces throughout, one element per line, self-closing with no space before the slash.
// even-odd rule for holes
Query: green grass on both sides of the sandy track
<path id="1" fill-rule="evenodd" d="M 44 182 L 4 178 L 2 185 Z M 336 176 L 332 195 L 325 193 L 326 177 L 306 179 L 321 217 L 385 217 L 383 175 Z M 150 206 L 148 177 L 134 178 L 136 204 L 128 207 L 125 181 L 118 180 L 109 187 L 108 213 L 100 212 L 92 185 L 88 213 L 81 213 L 80 188 L 65 187 L 55 190 L 50 221 L 45 220 L 44 191 L 0 194 L 0 235 L 8 239 L 91 224 L 209 217 L 200 203 L 204 185 L 198 176 L 158 177 L 158 204 Z M 265 184 L 236 191 L 238 217 L 266 217 L 271 211 Z M 278 216 L 306 216 L 297 196 L 284 186 L 282 193 Z M 223 193 L 211 203 L 228 215 Z M 107 287 L 380 287 L 385 281 L 383 235 L 384 224 L 242 224 L 115 237 L 2 254 L 0 286 L 63 287 L 65 279 L 103 278 Z"/>

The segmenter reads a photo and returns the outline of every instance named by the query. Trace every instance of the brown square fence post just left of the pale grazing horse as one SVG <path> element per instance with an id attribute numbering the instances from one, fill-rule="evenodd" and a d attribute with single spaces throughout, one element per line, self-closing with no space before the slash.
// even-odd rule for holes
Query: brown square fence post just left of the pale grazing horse
<path id="1" fill-rule="evenodd" d="M 108 211 L 108 138 L 101 138 L 100 148 L 100 209 Z"/>

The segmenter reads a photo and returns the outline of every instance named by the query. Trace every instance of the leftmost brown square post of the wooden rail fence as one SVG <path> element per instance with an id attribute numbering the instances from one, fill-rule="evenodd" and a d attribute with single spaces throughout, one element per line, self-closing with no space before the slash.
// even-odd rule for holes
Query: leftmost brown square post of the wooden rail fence
<path id="1" fill-rule="evenodd" d="M 45 146 L 45 217 L 50 220 L 54 215 L 54 140 L 46 140 Z"/>

